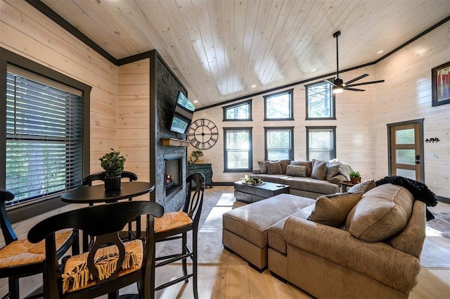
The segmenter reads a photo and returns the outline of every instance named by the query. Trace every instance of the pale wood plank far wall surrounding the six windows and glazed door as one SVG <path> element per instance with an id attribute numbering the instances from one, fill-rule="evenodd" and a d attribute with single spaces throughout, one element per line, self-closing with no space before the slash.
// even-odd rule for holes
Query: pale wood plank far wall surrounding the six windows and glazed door
<path id="1" fill-rule="evenodd" d="M 381 179 L 388 175 L 387 124 L 425 118 L 424 139 L 441 140 L 424 144 L 425 184 L 438 196 L 450 198 L 450 104 L 431 106 L 431 68 L 449 61 L 449 32 L 446 23 L 377 65 L 342 73 L 344 81 L 364 73 L 370 75 L 366 81 L 386 81 L 364 86 L 364 93 L 338 94 L 337 120 L 305 120 L 305 91 L 300 85 L 294 87 L 294 121 L 264 122 L 264 95 L 252 97 L 252 122 L 223 122 L 222 106 L 196 112 L 193 120 L 206 118 L 219 128 L 217 144 L 203 151 L 203 160 L 212 163 L 213 182 L 233 182 L 248 174 L 224 172 L 223 127 L 253 128 L 253 167 L 257 169 L 257 161 L 264 160 L 264 127 L 294 126 L 294 157 L 304 160 L 304 127 L 335 125 L 337 158 L 359 170 L 363 179 Z M 193 150 L 188 148 L 189 153 Z M 433 154 L 437 158 L 430 158 Z"/>

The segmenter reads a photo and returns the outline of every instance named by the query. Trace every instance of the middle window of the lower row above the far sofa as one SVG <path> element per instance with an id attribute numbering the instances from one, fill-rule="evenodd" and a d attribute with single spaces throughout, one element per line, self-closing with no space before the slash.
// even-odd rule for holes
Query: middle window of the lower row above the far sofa
<path id="1" fill-rule="evenodd" d="M 264 127 L 266 160 L 294 160 L 294 127 Z"/>

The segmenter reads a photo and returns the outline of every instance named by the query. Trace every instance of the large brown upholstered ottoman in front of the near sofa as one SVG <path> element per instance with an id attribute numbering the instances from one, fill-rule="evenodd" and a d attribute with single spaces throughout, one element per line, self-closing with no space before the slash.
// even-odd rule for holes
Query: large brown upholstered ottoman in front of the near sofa
<path id="1" fill-rule="evenodd" d="M 267 267 L 268 229 L 315 201 L 292 194 L 279 194 L 225 212 L 222 243 L 259 271 Z"/>

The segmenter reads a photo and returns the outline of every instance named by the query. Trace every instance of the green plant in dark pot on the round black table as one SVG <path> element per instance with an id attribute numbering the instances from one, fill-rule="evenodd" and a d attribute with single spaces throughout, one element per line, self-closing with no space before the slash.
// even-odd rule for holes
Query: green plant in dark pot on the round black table
<path id="1" fill-rule="evenodd" d="M 125 164 L 124 156 L 120 155 L 120 151 L 115 151 L 114 148 L 111 148 L 110 153 L 105 153 L 98 160 L 101 161 L 100 165 L 105 170 L 105 190 L 120 190 L 120 179 Z"/>

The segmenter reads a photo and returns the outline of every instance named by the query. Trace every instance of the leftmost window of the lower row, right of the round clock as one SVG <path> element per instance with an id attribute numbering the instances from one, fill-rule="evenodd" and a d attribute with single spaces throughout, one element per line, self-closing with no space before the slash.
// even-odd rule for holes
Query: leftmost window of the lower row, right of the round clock
<path id="1" fill-rule="evenodd" d="M 252 171 L 252 128 L 224 128 L 224 172 Z"/>

